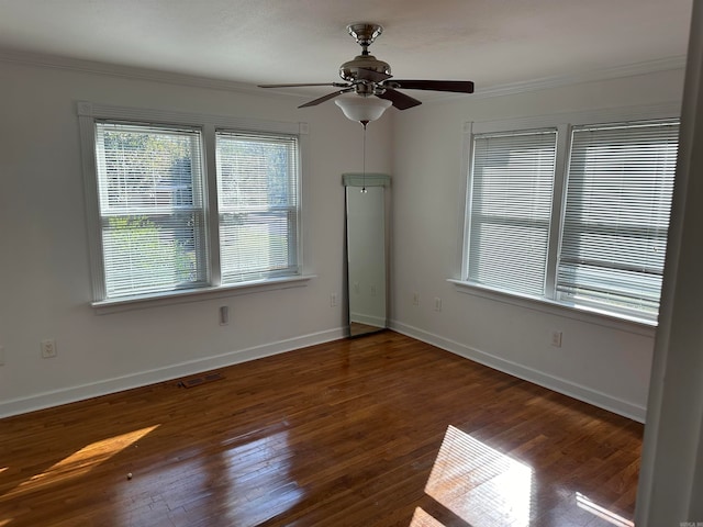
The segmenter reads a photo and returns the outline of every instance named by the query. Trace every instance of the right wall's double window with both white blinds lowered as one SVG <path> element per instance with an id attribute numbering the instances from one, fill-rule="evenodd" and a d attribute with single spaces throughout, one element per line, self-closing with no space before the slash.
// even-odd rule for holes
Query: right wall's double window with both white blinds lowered
<path id="1" fill-rule="evenodd" d="M 473 135 L 462 279 L 656 321 L 678 128 L 666 120 Z"/>

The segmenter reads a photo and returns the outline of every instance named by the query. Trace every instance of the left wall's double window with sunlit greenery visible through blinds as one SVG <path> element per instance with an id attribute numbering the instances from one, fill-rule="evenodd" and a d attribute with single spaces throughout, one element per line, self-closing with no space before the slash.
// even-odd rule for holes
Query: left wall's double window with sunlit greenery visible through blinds
<path id="1" fill-rule="evenodd" d="M 93 305 L 304 279 L 298 123 L 78 113 Z"/>

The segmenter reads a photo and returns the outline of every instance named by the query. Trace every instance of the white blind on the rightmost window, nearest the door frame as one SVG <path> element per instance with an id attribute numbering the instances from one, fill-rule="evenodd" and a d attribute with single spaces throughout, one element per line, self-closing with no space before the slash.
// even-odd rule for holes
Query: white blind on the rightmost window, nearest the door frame
<path id="1" fill-rule="evenodd" d="M 656 317 L 678 135 L 676 121 L 573 130 L 561 299 Z"/>

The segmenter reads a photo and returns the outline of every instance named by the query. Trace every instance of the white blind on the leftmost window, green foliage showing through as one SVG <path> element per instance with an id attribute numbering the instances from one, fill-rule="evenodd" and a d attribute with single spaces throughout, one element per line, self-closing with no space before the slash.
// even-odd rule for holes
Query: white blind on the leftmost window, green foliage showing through
<path id="1" fill-rule="evenodd" d="M 97 122 L 104 298 L 207 282 L 198 130 Z"/>

